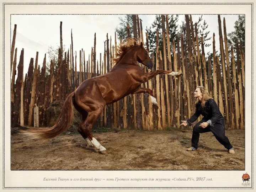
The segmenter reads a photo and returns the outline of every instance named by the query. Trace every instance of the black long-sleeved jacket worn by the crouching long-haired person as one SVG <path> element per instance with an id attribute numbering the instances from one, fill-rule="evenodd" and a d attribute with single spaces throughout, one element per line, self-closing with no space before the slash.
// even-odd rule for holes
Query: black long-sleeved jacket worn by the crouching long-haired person
<path id="1" fill-rule="evenodd" d="M 200 101 L 196 104 L 196 112 L 190 119 L 186 120 L 187 124 L 192 126 L 192 123 L 196 121 L 200 115 L 203 116 L 203 119 L 207 121 L 210 126 L 213 126 L 217 121 L 224 120 L 217 103 L 212 98 L 205 102 L 204 107 Z"/>

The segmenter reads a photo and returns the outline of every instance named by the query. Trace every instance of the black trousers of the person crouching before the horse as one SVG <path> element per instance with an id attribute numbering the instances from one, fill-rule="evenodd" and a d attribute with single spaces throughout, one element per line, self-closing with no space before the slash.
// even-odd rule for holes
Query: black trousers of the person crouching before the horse
<path id="1" fill-rule="evenodd" d="M 215 123 L 214 126 L 208 125 L 206 128 L 201 128 L 199 125 L 203 122 L 206 122 L 205 119 L 199 121 L 193 128 L 191 146 L 195 149 L 198 147 L 199 136 L 200 133 L 212 132 L 215 138 L 220 142 L 220 144 L 224 145 L 226 149 L 231 149 L 233 146 L 230 144 L 228 137 L 225 136 L 225 124 L 224 120 L 220 120 Z"/>

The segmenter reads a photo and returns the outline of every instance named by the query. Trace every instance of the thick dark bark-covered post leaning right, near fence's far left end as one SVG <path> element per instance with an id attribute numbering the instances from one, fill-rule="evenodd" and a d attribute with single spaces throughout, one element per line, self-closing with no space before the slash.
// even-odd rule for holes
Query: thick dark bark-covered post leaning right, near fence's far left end
<path id="1" fill-rule="evenodd" d="M 14 102 L 14 110 L 12 113 L 12 127 L 18 125 L 18 119 L 20 117 L 20 103 L 21 103 L 21 86 L 23 82 L 23 58 L 24 58 L 24 49 L 21 50 L 20 62 L 18 64 L 18 76 L 16 79 L 16 99 Z"/>

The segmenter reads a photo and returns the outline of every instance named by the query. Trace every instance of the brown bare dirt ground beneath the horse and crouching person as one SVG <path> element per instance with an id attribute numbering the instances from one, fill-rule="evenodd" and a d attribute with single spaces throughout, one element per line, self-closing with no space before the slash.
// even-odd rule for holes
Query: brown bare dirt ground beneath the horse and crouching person
<path id="1" fill-rule="evenodd" d="M 191 129 L 94 133 L 106 154 L 87 147 L 80 134 L 64 133 L 44 141 L 14 134 L 11 170 L 244 170 L 244 130 L 225 133 L 235 154 L 229 154 L 211 132 L 200 135 L 196 151 L 186 151 Z"/>

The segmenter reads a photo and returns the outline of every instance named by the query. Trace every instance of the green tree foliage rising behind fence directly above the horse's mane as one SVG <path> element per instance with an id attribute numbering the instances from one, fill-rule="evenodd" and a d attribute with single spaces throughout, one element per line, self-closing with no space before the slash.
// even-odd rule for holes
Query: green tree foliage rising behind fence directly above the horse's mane
<path id="1" fill-rule="evenodd" d="M 115 31 L 118 39 L 126 39 L 127 35 L 127 24 L 130 26 L 130 37 L 133 37 L 133 20 L 132 15 L 125 15 L 124 17 L 118 17 L 119 25 L 116 27 Z"/>

